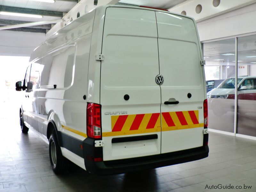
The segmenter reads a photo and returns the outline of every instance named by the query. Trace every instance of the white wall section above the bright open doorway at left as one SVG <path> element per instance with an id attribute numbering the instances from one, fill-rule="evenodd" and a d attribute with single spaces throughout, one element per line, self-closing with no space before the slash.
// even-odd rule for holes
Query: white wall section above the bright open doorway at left
<path id="1" fill-rule="evenodd" d="M 0 55 L 29 57 L 44 40 L 44 33 L 0 30 Z"/>

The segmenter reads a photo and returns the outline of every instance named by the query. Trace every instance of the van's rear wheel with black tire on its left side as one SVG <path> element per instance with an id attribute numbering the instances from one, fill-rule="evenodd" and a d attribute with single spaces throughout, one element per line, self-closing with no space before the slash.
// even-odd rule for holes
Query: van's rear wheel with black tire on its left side
<path id="1" fill-rule="evenodd" d="M 49 139 L 49 155 L 53 172 L 56 174 L 65 172 L 67 160 L 62 156 L 55 132 L 51 134 Z"/>

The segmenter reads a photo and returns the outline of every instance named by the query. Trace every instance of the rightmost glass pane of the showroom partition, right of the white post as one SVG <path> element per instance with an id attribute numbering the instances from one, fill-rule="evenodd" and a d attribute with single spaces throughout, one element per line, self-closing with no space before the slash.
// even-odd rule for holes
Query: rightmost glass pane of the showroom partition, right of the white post
<path id="1" fill-rule="evenodd" d="M 237 130 L 256 137 L 256 35 L 238 38 Z"/>

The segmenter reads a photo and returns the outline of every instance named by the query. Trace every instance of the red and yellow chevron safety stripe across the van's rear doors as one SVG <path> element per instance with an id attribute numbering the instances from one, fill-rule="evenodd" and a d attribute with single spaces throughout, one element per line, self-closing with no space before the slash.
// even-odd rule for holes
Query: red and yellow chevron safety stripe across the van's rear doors
<path id="1" fill-rule="evenodd" d="M 199 112 L 176 111 L 160 113 L 148 113 L 137 115 L 111 116 L 111 132 L 103 132 L 103 137 L 131 135 L 150 132 L 173 131 L 203 127 L 199 124 Z M 162 119 L 162 129 L 161 129 Z"/>

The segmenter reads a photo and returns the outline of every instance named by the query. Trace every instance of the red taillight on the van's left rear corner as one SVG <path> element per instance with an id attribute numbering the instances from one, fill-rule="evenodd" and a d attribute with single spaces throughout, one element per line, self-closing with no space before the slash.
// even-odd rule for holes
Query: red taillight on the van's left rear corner
<path id="1" fill-rule="evenodd" d="M 101 138 L 101 106 L 96 103 L 87 103 L 87 136 Z"/>

